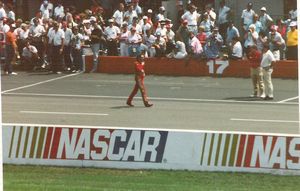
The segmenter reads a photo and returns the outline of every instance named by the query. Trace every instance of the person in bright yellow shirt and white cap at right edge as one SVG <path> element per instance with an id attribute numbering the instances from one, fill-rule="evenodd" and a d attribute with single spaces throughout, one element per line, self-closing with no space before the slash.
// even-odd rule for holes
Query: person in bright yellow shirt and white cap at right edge
<path id="1" fill-rule="evenodd" d="M 288 60 L 298 60 L 298 30 L 297 22 L 290 23 L 291 30 L 287 33 L 287 52 L 286 57 Z"/>

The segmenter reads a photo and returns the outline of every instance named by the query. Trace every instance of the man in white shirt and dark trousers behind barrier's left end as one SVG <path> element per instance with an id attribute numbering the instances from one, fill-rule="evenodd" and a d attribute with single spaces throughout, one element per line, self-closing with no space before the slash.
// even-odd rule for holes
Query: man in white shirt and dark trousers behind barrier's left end
<path id="1" fill-rule="evenodd" d="M 118 40 L 121 33 L 119 27 L 114 25 L 114 20 L 109 19 L 109 26 L 105 28 L 104 35 L 106 36 L 106 46 L 108 56 L 118 55 Z"/>

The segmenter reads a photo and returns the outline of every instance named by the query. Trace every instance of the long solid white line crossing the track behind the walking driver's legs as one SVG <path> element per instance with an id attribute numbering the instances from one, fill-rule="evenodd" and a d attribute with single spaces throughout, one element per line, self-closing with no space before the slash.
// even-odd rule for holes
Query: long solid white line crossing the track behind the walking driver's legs
<path id="1" fill-rule="evenodd" d="M 74 94 L 38 94 L 38 93 L 6 93 L 3 95 L 17 95 L 17 96 L 39 96 L 39 97 L 67 97 L 67 98 L 99 98 L 99 99 L 127 99 L 127 96 L 98 96 L 98 95 L 74 95 Z M 141 97 L 136 97 L 142 99 Z M 157 101 L 191 101 L 191 102 L 214 102 L 214 103 L 262 103 L 262 104 L 278 104 L 277 102 L 266 102 L 266 101 L 237 101 L 237 100 L 214 100 L 214 99 L 188 99 L 188 98 L 161 98 L 161 97 L 150 97 L 151 100 Z M 285 105 L 298 105 L 294 102 L 280 103 Z"/>

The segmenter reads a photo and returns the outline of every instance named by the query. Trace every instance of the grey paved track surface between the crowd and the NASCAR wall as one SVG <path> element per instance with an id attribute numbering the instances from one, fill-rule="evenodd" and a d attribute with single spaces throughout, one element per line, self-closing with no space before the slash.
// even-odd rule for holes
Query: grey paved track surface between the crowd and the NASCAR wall
<path id="1" fill-rule="evenodd" d="M 127 107 L 133 75 L 1 76 L 3 123 L 299 134 L 298 80 L 273 79 L 275 99 L 250 98 L 249 78 L 147 76 Z"/>

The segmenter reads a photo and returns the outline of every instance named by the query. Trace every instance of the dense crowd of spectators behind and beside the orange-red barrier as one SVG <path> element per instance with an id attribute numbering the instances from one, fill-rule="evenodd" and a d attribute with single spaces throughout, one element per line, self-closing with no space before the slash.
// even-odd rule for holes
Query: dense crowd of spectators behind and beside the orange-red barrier
<path id="1" fill-rule="evenodd" d="M 297 10 L 289 18 L 274 19 L 262 7 L 259 13 L 248 3 L 241 12 L 241 26 L 235 26 L 233 11 L 221 0 L 219 9 L 205 5 L 200 11 L 192 3 L 177 1 L 178 21 L 167 18 L 167 10 L 144 9 L 139 0 L 125 0 L 111 15 L 101 5 L 84 12 L 53 5 L 45 0 L 34 18 L 23 21 L 14 6 L 0 1 L 0 31 L 6 36 L 6 73 L 14 74 L 10 62 L 15 53 L 27 69 L 46 67 L 51 71 L 82 71 L 85 48 L 93 52 L 93 70 L 99 55 L 176 59 L 243 59 L 253 46 L 262 51 L 268 45 L 276 60 L 297 59 Z M 174 24 L 180 22 L 175 28 Z M 238 29 L 240 28 L 240 30 Z M 1 39 L 1 38 L 0 38 Z M 15 39 L 15 40 L 14 40 Z"/>

